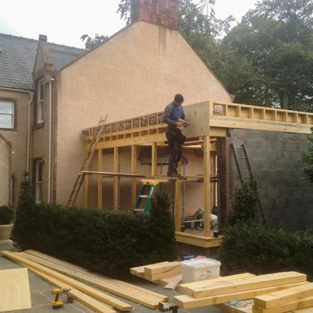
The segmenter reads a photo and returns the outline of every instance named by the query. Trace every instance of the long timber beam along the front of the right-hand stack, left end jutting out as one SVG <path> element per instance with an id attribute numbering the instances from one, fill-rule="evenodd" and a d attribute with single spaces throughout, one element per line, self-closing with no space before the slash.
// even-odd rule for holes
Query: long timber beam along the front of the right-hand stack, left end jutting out
<path id="1" fill-rule="evenodd" d="M 282 289 L 288 289 L 299 284 L 306 284 L 307 282 L 297 282 L 295 284 L 284 284 L 280 286 L 265 287 L 259 289 L 251 289 L 246 291 L 232 292 L 229 294 L 220 294 L 216 296 L 208 296 L 204 298 L 193 298 L 186 294 L 175 296 L 174 303 L 182 309 L 191 309 L 193 307 L 204 307 L 206 305 L 217 305 L 233 300 L 247 300 L 254 298 L 255 296 L 268 294 L 268 292 L 279 291 Z"/>

